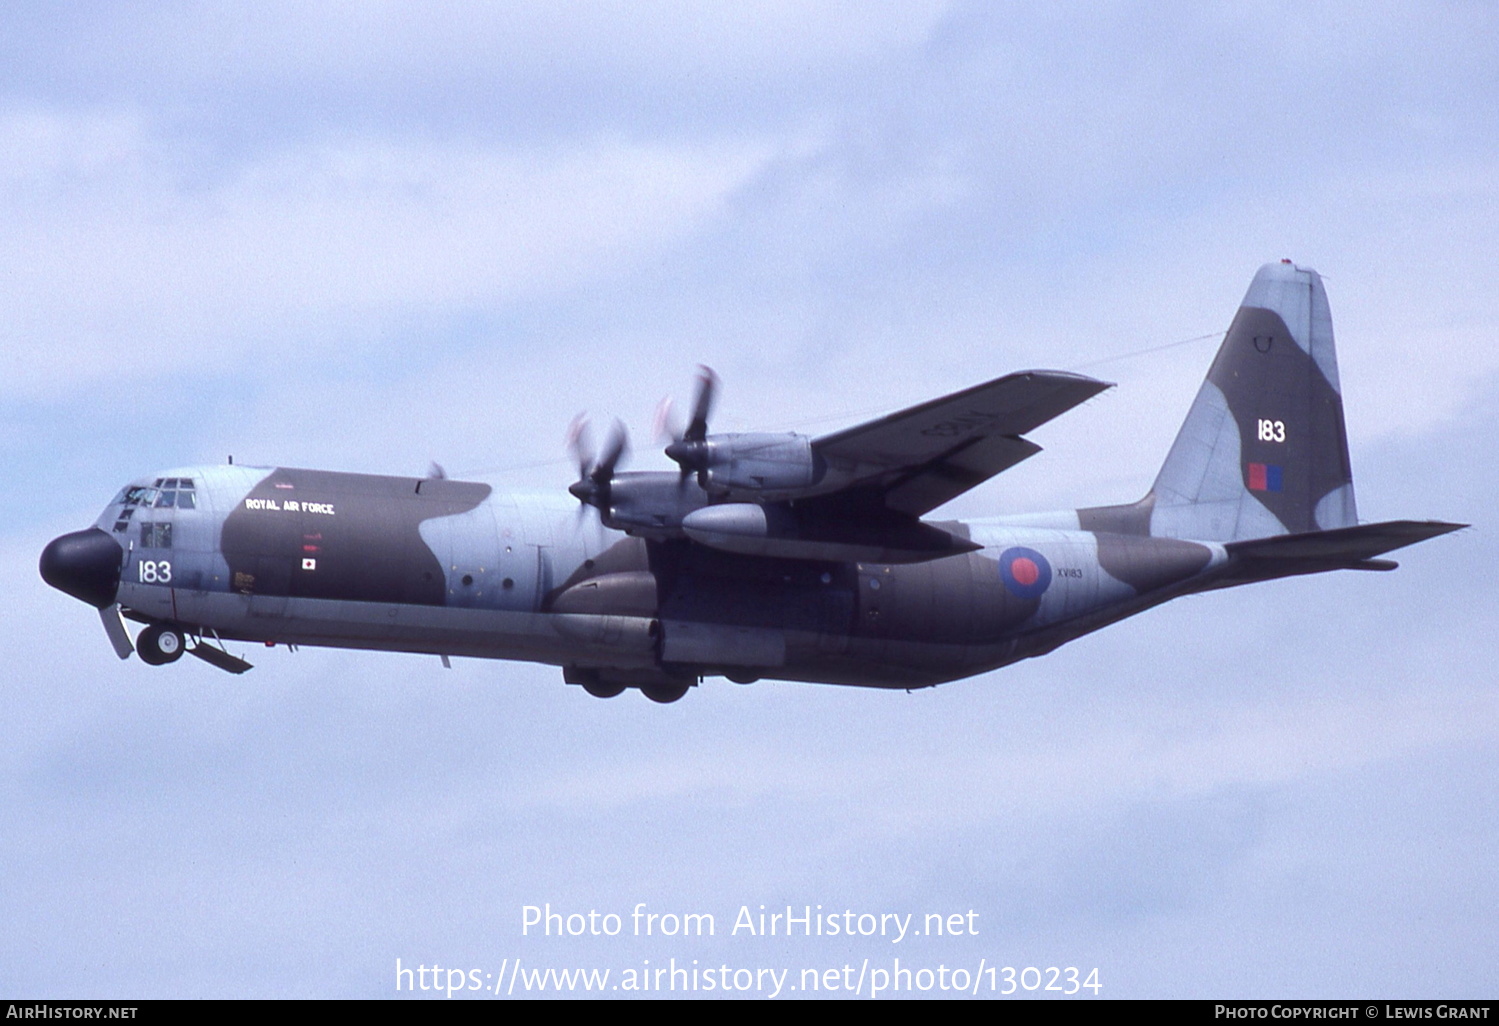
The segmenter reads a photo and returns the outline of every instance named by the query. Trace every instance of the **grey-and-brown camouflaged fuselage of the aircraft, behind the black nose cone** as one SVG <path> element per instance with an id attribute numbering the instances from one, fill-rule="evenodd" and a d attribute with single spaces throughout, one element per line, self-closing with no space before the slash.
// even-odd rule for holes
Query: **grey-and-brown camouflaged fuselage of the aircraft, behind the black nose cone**
<path id="1" fill-rule="evenodd" d="M 223 465 L 135 482 L 91 531 L 120 549 L 108 600 L 142 622 L 531 660 L 606 687 L 923 687 L 1049 651 L 1225 560 L 1213 543 L 1078 530 L 1075 513 L 941 526 L 983 548 L 910 564 L 748 556 L 625 536 L 547 494 Z"/>

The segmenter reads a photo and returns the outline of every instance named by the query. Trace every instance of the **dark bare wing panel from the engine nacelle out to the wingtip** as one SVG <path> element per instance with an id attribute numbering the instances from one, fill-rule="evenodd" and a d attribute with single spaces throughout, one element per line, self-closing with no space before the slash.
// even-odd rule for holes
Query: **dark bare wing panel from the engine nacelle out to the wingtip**
<path id="1" fill-rule="evenodd" d="M 1066 370 L 1021 370 L 823 435 L 812 452 L 827 472 L 814 495 L 857 489 L 881 495 L 893 513 L 922 516 L 1039 453 L 1021 435 L 1111 387 Z"/>

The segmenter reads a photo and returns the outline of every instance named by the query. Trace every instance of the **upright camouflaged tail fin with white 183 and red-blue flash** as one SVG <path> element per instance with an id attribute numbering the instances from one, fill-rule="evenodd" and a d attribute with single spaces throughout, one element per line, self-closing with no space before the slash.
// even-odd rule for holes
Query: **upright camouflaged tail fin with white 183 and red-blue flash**
<path id="1" fill-rule="evenodd" d="M 1156 537 L 1240 542 L 1358 524 L 1321 276 L 1265 264 L 1141 502 L 1081 512 Z"/>

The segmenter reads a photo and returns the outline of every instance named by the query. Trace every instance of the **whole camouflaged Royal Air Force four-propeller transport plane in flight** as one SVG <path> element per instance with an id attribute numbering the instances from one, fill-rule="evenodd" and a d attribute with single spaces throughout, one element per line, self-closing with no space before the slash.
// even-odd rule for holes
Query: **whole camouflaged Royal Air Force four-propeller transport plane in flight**
<path id="1" fill-rule="evenodd" d="M 705 369 L 678 471 L 616 472 L 622 430 L 594 454 L 574 428 L 582 507 L 436 466 L 184 466 L 127 484 L 40 572 L 120 658 L 249 669 L 225 640 L 519 658 L 673 702 L 709 675 L 926 687 L 1178 596 L 1393 570 L 1379 556 L 1465 526 L 1358 522 L 1327 292 L 1291 261 L 1255 276 L 1142 500 L 923 519 L 1108 387 L 1024 370 L 821 438 L 711 435 Z"/>

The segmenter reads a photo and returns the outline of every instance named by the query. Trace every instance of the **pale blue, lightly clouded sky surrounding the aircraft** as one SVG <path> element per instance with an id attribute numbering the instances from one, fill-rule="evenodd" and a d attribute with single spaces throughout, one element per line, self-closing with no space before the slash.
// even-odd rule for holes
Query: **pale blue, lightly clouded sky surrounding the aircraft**
<path id="1" fill-rule="evenodd" d="M 1477 0 L 6 4 L 0 996 L 445 999 L 517 960 L 1495 996 L 1496 99 Z M 36 573 L 124 482 L 231 454 L 561 492 L 589 411 L 664 468 L 699 363 L 715 430 L 1103 376 L 943 514 L 1133 501 L 1280 258 L 1327 282 L 1361 518 L 1474 525 L 1396 573 L 911 694 L 670 706 L 523 663 L 121 663 Z M 622 928 L 523 927 L 547 906 Z M 760 906 L 974 916 L 732 932 Z"/>

